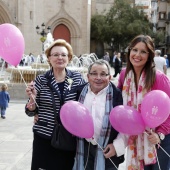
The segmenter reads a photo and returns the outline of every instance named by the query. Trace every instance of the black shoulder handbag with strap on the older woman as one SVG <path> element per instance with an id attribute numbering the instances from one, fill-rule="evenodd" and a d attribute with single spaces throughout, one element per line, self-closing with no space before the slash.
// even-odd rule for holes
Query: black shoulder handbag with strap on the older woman
<path id="1" fill-rule="evenodd" d="M 50 87 L 50 85 L 49 85 Z M 52 134 L 51 145 L 54 148 L 65 150 L 65 151 L 75 151 L 76 150 L 76 137 L 69 133 L 64 126 L 57 120 L 56 105 L 54 100 L 54 94 L 50 87 L 54 116 L 55 116 L 55 126 Z M 66 94 L 66 93 L 65 93 Z M 61 105 L 64 103 L 63 100 L 60 101 Z"/>

